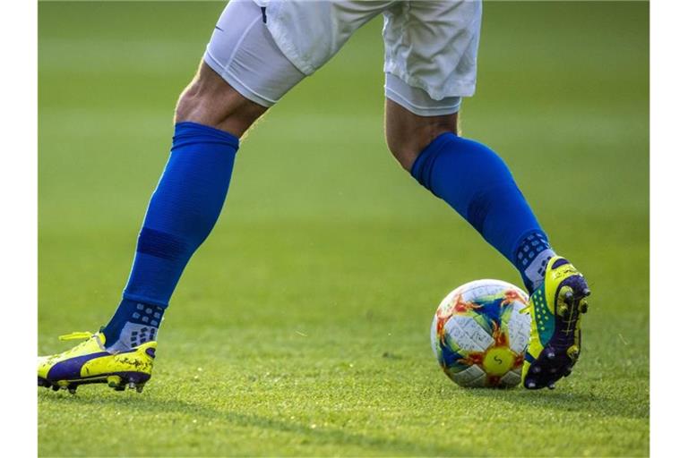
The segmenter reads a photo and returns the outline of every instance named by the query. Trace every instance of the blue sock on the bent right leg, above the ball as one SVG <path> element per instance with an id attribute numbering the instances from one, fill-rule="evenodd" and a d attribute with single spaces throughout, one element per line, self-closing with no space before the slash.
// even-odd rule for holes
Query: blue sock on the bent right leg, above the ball
<path id="1" fill-rule="evenodd" d="M 421 151 L 411 174 L 509 259 L 529 291 L 538 287 L 542 275 L 531 265 L 543 256 L 554 256 L 554 251 L 509 168 L 494 151 L 443 133 Z M 532 245 L 536 240 L 537 247 Z"/>

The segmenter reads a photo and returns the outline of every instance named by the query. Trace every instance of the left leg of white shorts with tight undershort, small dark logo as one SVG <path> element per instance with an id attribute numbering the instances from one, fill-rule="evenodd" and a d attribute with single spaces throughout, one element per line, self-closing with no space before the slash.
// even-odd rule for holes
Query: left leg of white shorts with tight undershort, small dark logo
<path id="1" fill-rule="evenodd" d="M 232 0 L 203 60 L 242 96 L 270 107 L 393 3 Z"/>

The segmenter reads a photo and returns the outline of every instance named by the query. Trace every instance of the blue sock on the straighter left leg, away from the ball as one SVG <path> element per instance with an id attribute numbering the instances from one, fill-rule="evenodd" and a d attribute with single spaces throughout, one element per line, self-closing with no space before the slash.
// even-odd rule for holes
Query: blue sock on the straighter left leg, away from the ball
<path id="1" fill-rule="evenodd" d="M 149 340 L 155 337 L 179 277 L 218 219 L 238 147 L 239 140 L 228 132 L 197 123 L 176 124 L 168 164 L 139 233 L 123 301 L 103 329 L 108 350 L 131 347 L 134 331 Z M 141 339 L 136 343 L 142 344 Z"/>

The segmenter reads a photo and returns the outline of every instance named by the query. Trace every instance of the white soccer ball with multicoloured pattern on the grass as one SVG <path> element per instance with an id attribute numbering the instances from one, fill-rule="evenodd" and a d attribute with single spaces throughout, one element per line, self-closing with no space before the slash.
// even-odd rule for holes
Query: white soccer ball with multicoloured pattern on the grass
<path id="1" fill-rule="evenodd" d="M 430 328 L 434 356 L 460 386 L 510 387 L 530 335 L 528 295 L 500 280 L 463 284 L 440 303 Z"/>

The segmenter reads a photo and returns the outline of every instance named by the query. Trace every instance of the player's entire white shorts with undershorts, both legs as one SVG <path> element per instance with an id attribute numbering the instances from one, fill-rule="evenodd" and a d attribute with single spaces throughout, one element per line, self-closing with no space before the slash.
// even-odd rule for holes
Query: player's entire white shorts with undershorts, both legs
<path id="1" fill-rule="evenodd" d="M 476 89 L 481 12 L 479 0 L 232 0 L 203 58 L 272 106 L 383 13 L 385 96 L 421 116 L 452 114 Z"/>

